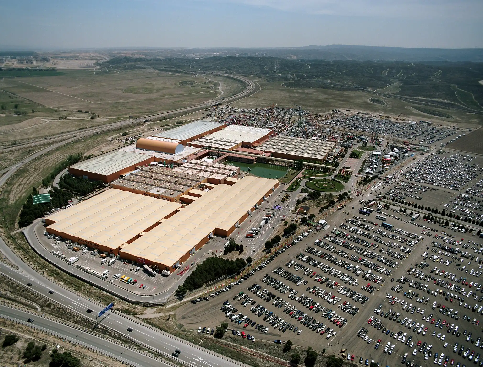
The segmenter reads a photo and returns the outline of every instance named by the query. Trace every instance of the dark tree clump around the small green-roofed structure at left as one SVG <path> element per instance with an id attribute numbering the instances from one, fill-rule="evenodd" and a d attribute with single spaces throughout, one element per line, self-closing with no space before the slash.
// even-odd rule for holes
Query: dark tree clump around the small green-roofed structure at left
<path id="1" fill-rule="evenodd" d="M 52 210 L 52 208 L 59 208 L 61 206 L 67 205 L 69 199 L 71 198 L 71 194 L 66 191 L 60 190 L 57 187 L 54 187 L 53 190 L 49 191 L 51 203 L 40 203 L 40 204 L 33 204 L 33 196 L 39 195 L 39 192 L 34 187 L 32 190 L 32 194 L 27 197 L 27 202 L 22 205 L 22 210 L 20 211 L 20 215 L 18 217 L 18 226 L 25 227 L 37 219 L 42 218 L 46 212 Z"/>

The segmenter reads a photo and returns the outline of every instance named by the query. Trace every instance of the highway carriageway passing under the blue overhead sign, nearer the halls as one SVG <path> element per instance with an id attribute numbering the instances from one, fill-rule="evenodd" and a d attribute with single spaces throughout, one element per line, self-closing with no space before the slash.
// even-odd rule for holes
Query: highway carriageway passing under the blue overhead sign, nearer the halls
<path id="1" fill-rule="evenodd" d="M 69 289 L 66 289 L 56 282 L 45 278 L 34 269 L 30 268 L 24 263 L 14 252 L 0 239 L 0 249 L 5 256 L 16 266 L 18 270 L 0 262 L 0 273 L 13 279 L 16 282 L 27 284 L 32 283 L 30 287 L 33 291 L 47 297 L 64 307 L 68 307 L 72 312 L 81 314 L 90 319 L 93 323 L 96 321 L 96 314 L 104 308 L 103 305 L 80 296 Z M 53 294 L 49 294 L 53 291 Z M 89 314 L 87 309 L 92 309 L 94 312 Z M 3 311 L 0 309 L 0 314 Z M 151 348 L 152 350 L 170 356 L 175 349 L 181 349 L 183 353 L 179 356 L 179 360 L 188 366 L 201 367 L 240 367 L 246 366 L 239 362 L 227 359 L 226 357 L 208 351 L 197 345 L 189 343 L 184 339 L 179 339 L 168 333 L 162 332 L 152 326 L 142 324 L 137 319 L 130 318 L 120 312 L 108 311 L 99 318 L 99 323 L 107 328 L 115 330 L 128 339 L 132 339 L 141 345 Z M 128 327 L 133 329 L 128 331 Z"/>

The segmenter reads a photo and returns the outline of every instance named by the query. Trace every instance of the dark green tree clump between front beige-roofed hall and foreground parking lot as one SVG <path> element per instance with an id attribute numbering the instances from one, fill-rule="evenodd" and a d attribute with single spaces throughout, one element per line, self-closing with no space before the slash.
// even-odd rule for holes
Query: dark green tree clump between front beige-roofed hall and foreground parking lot
<path id="1" fill-rule="evenodd" d="M 183 296 L 186 292 L 201 288 L 205 283 L 214 281 L 222 276 L 238 273 L 246 266 L 245 260 L 227 260 L 221 257 L 208 257 L 188 275 L 183 285 L 175 292 L 176 296 Z"/>

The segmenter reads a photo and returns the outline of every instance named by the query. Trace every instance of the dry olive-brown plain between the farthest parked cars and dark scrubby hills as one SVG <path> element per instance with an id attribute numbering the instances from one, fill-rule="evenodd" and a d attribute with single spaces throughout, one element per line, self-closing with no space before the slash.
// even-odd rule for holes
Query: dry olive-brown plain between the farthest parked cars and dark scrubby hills
<path id="1" fill-rule="evenodd" d="M 293 103 L 295 103 L 306 110 L 313 111 L 314 113 L 330 112 L 333 109 L 340 109 L 341 111 L 350 109 L 352 111 L 355 110 L 356 112 L 362 111 L 394 116 L 402 113 L 401 118 L 405 118 L 406 120 L 430 120 L 435 123 L 444 123 L 445 125 L 468 123 L 474 127 L 478 127 L 483 124 L 482 115 L 475 115 L 457 110 L 444 110 L 455 117 L 451 120 L 436 116 L 430 116 L 429 118 L 426 113 L 413 110 L 410 103 L 399 99 L 374 96 L 363 91 L 346 92 L 322 88 L 291 89 L 280 85 L 281 83 L 267 83 L 263 78 L 250 76 L 250 79 L 256 81 L 262 89 L 251 97 L 233 102 L 232 105 L 234 107 L 264 107 L 269 106 L 272 103 L 283 107 L 294 107 Z M 387 107 L 370 102 L 369 99 L 373 97 L 383 100 Z"/>

